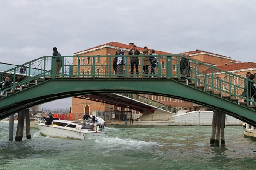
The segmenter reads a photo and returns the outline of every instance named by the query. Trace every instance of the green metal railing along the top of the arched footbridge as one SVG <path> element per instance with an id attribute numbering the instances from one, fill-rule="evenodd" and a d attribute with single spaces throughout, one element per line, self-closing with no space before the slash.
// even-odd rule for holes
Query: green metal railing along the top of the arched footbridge
<path id="1" fill-rule="evenodd" d="M 206 90 L 220 92 L 221 95 L 239 99 L 240 102 L 247 100 L 248 105 L 250 102 L 255 103 L 250 98 L 255 94 L 255 91 L 251 94 L 249 94 L 249 91 L 246 91 L 246 95 L 241 96 L 245 88 L 248 89 L 250 87 L 249 85 L 255 83 L 253 80 L 245 79 L 241 75 L 236 75 L 180 55 L 155 55 L 157 57 L 155 72 L 150 74 L 153 66 L 150 64 L 151 56 L 99 55 L 58 56 L 59 58 L 55 56 L 40 57 L 0 73 L 3 86 L 6 84 L 6 77 L 10 77 L 9 82 L 11 82 L 11 85 L 6 85 L 0 92 L 13 91 L 15 88 L 19 88 L 22 85 L 29 85 L 37 79 L 45 81 L 46 79 L 65 79 L 72 77 L 78 79 L 171 79 L 176 77 L 177 79 L 189 79 L 195 83 L 195 87 L 202 86 Z M 115 59 L 115 57 L 118 57 L 118 59 Z M 138 57 L 138 59 L 132 57 Z M 180 67 L 180 62 L 185 59 L 190 60 L 189 69 L 187 69 L 189 70 L 189 74 L 186 71 L 184 73 L 186 69 Z M 115 64 L 117 64 L 116 69 Z M 60 65 L 59 71 L 57 65 Z M 133 74 L 131 65 L 134 65 Z M 138 71 L 136 71 L 136 67 Z"/>

